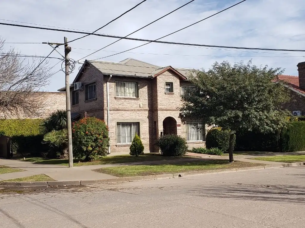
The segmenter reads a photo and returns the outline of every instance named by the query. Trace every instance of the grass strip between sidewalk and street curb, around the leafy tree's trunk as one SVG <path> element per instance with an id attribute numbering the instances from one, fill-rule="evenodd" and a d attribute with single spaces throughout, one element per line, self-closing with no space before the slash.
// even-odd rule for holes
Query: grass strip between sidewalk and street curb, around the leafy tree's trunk
<path id="1" fill-rule="evenodd" d="M 260 166 L 260 164 L 240 162 L 240 161 L 229 163 L 228 160 L 207 159 L 203 161 L 182 163 L 182 164 L 116 166 L 116 167 L 95 169 L 93 171 L 99 173 L 106 173 L 117 177 L 132 177 L 132 176 L 172 174 L 172 173 L 188 172 L 188 171 L 231 169 L 231 168 L 242 168 L 242 167 L 253 167 L 253 166 Z"/>

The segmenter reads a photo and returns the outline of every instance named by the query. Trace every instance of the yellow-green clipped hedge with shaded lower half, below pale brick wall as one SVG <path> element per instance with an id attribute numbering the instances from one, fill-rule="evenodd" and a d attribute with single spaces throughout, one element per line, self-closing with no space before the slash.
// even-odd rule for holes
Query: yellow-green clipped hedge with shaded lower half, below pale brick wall
<path id="1" fill-rule="evenodd" d="M 41 135 L 42 119 L 0 119 L 0 132 L 10 136 L 14 153 L 38 155 L 45 150 Z"/>

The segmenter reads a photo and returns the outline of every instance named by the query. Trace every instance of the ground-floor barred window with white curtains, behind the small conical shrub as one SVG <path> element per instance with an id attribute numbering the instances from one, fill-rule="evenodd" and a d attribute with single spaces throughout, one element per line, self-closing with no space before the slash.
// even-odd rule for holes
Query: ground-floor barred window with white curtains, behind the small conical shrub
<path id="1" fill-rule="evenodd" d="M 117 123 L 117 144 L 131 144 L 134 136 L 140 135 L 139 122 L 120 122 Z"/>

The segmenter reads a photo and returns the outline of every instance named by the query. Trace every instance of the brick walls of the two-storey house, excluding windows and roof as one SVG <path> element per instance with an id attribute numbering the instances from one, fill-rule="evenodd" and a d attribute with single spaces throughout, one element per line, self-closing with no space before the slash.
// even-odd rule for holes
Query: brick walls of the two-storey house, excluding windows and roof
<path id="1" fill-rule="evenodd" d="M 107 81 L 109 75 L 103 75 L 93 65 L 77 79 L 85 86 L 96 82 L 97 98 L 86 102 L 85 90 L 79 91 L 79 103 L 72 105 L 71 112 L 87 112 L 88 116 L 95 116 L 107 123 Z M 135 81 L 138 83 L 138 98 L 116 97 L 116 81 Z M 173 83 L 173 93 L 165 93 L 165 82 Z M 175 120 L 177 134 L 186 137 L 186 126 L 181 121 L 179 107 L 181 101 L 181 83 L 183 80 L 171 70 L 165 71 L 155 78 L 136 78 L 124 76 L 112 76 L 109 81 L 109 137 L 111 153 L 129 152 L 130 145 L 117 144 L 117 122 L 138 122 L 140 125 L 140 137 L 145 152 L 158 152 L 155 142 L 163 133 L 163 120 L 172 117 Z M 72 90 L 71 104 L 72 104 Z M 156 126 L 155 126 L 156 123 Z M 155 129 L 156 127 L 156 129 Z M 156 134 L 154 134 L 156 132 Z M 188 143 L 189 148 L 204 147 L 205 142 Z"/>

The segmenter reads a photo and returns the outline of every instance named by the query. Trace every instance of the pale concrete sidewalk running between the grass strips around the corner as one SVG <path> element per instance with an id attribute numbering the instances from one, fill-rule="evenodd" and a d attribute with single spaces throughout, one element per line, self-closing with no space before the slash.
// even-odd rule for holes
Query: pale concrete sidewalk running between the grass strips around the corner
<path id="1" fill-rule="evenodd" d="M 272 153 L 274 155 L 275 153 Z M 280 153 L 279 155 L 287 155 L 289 153 Z M 304 152 L 294 153 L 294 154 L 304 154 Z M 119 155 L 119 154 L 111 154 L 111 156 Z M 261 157 L 266 156 L 266 154 L 259 155 L 235 155 L 235 161 L 243 161 L 243 162 L 252 162 L 259 164 L 285 164 L 281 162 L 273 162 L 273 161 L 258 161 L 251 160 L 249 158 L 252 157 Z M 270 153 L 269 153 L 270 155 Z M 194 157 L 193 159 L 186 158 L 188 162 L 198 161 L 200 158 L 204 159 L 224 159 L 228 160 L 228 156 L 217 156 L 217 155 L 208 155 L 208 154 L 195 154 L 188 153 L 187 156 Z M 195 158 L 196 157 L 196 158 Z M 104 168 L 104 167 L 113 167 L 113 166 L 122 166 L 122 165 L 151 165 L 151 164 L 177 164 L 181 163 L 186 159 L 170 159 L 170 160 L 161 160 L 161 161 L 142 161 L 142 162 L 132 162 L 132 163 L 121 163 L 121 164 L 104 164 L 104 165 L 88 165 L 88 166 L 78 166 L 74 168 L 68 168 L 63 165 L 53 165 L 53 164 L 35 164 L 28 161 L 20 161 L 15 159 L 0 159 L 0 165 L 5 165 L 13 168 L 20 168 L 25 171 L 23 172 L 14 172 L 7 174 L 0 174 L 0 181 L 14 179 L 14 178 L 22 178 L 27 176 L 33 176 L 37 174 L 45 174 L 49 177 L 53 178 L 57 181 L 79 181 L 79 180 L 102 180 L 102 179 L 111 179 L 116 178 L 114 176 L 97 173 L 92 171 L 93 169 Z"/>

